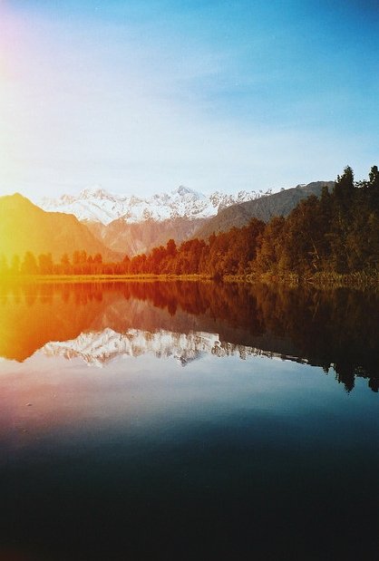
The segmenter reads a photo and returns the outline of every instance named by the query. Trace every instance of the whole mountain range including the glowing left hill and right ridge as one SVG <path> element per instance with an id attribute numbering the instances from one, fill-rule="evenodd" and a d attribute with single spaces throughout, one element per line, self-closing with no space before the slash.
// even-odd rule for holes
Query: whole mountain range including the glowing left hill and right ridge
<path id="1" fill-rule="evenodd" d="M 333 189 L 334 182 L 316 181 L 277 193 L 216 191 L 209 196 L 180 186 L 149 198 L 84 189 L 78 196 L 44 198 L 39 206 L 16 193 L 0 197 L 0 255 L 10 260 L 26 251 L 51 253 L 59 261 L 63 253 L 72 255 L 78 249 L 119 261 L 165 245 L 170 238 L 180 244 L 245 226 L 251 218 L 287 216 L 302 198 L 319 196 L 324 186 Z"/>

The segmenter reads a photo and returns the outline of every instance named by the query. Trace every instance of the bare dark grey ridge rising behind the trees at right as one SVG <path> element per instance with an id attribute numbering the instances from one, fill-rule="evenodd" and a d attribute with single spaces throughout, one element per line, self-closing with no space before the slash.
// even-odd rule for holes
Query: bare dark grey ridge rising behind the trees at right
<path id="1" fill-rule="evenodd" d="M 267 197 L 256 198 L 238 205 L 223 208 L 219 214 L 209 218 L 204 226 L 199 227 L 195 236 L 207 238 L 213 232 L 215 234 L 228 231 L 231 227 L 246 226 L 251 218 L 258 218 L 268 222 L 270 218 L 286 217 L 293 208 L 310 195 L 319 197 L 324 186 L 333 189 L 334 181 L 315 181 L 307 185 L 298 185 L 293 189 L 284 189 L 278 193 L 267 195 Z"/>

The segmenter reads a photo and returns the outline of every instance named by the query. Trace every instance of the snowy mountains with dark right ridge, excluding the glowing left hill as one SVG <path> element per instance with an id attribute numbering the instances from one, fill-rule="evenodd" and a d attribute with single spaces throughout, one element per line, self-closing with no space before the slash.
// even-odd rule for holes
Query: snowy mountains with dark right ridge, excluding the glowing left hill
<path id="1" fill-rule="evenodd" d="M 316 181 L 274 194 L 268 189 L 235 195 L 215 191 L 209 196 L 180 186 L 149 198 L 84 189 L 78 196 L 44 198 L 40 205 L 73 213 L 104 246 L 133 256 L 165 245 L 170 238 L 180 244 L 191 237 L 207 238 L 212 232 L 245 226 L 251 218 L 268 221 L 287 216 L 302 198 L 319 196 L 325 185 L 333 189 L 334 182 Z"/>

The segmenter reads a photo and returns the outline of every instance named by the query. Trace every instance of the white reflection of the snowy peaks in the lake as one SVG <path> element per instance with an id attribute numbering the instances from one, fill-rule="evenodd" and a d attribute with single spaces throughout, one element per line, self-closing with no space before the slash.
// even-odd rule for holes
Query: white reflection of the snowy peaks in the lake
<path id="1" fill-rule="evenodd" d="M 46 343 L 39 353 L 46 356 L 63 356 L 66 359 L 81 358 L 85 363 L 104 366 L 116 357 L 153 354 L 158 358 L 173 358 L 182 366 L 206 354 L 228 356 L 238 354 L 241 359 L 249 355 L 266 354 L 259 349 L 221 343 L 219 334 L 191 332 L 180 334 L 166 330 L 151 333 L 139 329 L 129 329 L 117 333 L 107 327 L 102 332 L 80 334 L 76 339 L 65 342 Z"/>

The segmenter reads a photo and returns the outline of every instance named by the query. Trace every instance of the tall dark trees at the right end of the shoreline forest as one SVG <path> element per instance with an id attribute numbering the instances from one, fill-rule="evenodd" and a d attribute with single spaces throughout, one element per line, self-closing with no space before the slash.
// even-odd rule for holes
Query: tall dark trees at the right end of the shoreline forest
<path id="1" fill-rule="evenodd" d="M 379 266 L 379 173 L 371 169 L 369 180 L 355 183 L 346 167 L 335 189 L 323 189 L 321 198 L 301 201 L 286 218 L 277 237 L 275 222 L 265 230 L 256 266 L 258 272 L 316 272 L 349 274 L 376 271 Z M 277 247 L 274 252 L 273 246 Z M 269 257 L 267 257 L 267 255 Z"/>

